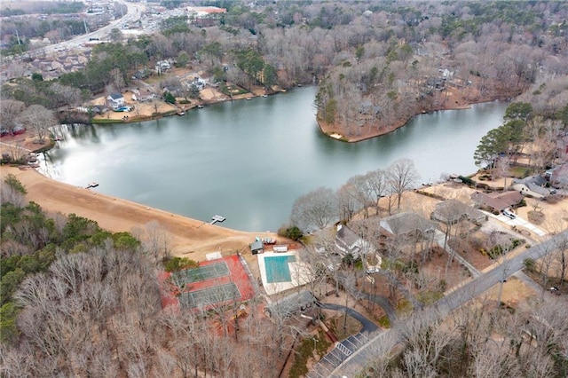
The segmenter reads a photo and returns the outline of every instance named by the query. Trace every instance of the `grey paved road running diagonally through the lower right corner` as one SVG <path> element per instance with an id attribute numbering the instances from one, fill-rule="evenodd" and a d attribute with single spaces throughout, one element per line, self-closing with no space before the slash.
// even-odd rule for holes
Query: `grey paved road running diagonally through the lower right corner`
<path id="1" fill-rule="evenodd" d="M 526 258 L 538 260 L 540 257 L 555 251 L 557 246 L 561 245 L 565 240 L 568 240 L 568 230 L 556 234 L 550 239 L 535 245 L 533 248 L 526 249 L 522 253 L 517 254 L 517 256 L 511 256 L 505 259 L 501 264 L 496 264 L 492 270 L 485 272 L 473 280 L 469 280 L 469 282 L 456 288 L 437 303 L 421 311 L 415 311 L 411 317 L 398 322 L 398 324 L 389 331 L 376 335 L 364 346 L 353 351 L 351 355 L 343 361 L 342 365 L 335 368 L 335 370 L 327 374 L 327 376 L 337 378 L 355 376 L 355 374 L 359 373 L 373 358 L 384 355 L 395 345 L 403 342 L 402 330 L 406 328 L 406 325 L 413 323 L 427 325 L 431 324 L 436 319 L 445 318 L 451 311 L 454 311 L 462 304 L 484 293 L 487 289 L 493 287 L 493 285 L 496 285 L 504 278 L 520 271 L 524 266 L 523 262 Z M 312 374 L 310 375 L 313 376 Z"/>

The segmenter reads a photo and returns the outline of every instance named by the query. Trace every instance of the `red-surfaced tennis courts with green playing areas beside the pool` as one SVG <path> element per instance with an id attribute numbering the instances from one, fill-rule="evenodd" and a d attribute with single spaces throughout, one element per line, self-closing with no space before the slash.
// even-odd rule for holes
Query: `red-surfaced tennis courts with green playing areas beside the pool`
<path id="1" fill-rule="evenodd" d="M 168 280 L 170 279 L 170 280 Z M 223 304 L 243 302 L 255 295 L 255 288 L 239 256 L 204 261 L 199 267 L 164 273 L 162 306 L 181 309 L 209 310 Z"/>

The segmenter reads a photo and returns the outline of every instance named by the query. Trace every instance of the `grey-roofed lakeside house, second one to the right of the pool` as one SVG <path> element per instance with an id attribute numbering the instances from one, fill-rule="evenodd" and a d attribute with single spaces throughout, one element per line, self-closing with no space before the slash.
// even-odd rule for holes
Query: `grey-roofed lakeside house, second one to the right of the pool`
<path id="1" fill-rule="evenodd" d="M 416 236 L 430 239 L 430 236 L 436 231 L 436 224 L 411 212 L 384 217 L 380 221 L 380 227 L 383 234 L 395 238 Z"/>

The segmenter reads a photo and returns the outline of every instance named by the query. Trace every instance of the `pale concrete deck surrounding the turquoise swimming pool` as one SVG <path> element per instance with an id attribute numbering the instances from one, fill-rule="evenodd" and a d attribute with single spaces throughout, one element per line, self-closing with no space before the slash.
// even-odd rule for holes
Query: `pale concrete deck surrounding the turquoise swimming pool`
<path id="1" fill-rule="evenodd" d="M 264 258 L 275 256 L 296 257 L 296 262 L 288 263 L 288 269 L 290 270 L 291 277 L 289 282 L 269 283 L 266 279 L 266 265 L 264 264 Z M 288 251 L 285 253 L 264 252 L 263 254 L 256 255 L 256 258 L 258 260 L 258 268 L 260 270 L 260 279 L 263 281 L 264 291 L 267 295 L 275 295 L 290 288 L 303 286 L 310 282 L 311 271 L 305 263 L 300 261 L 296 251 Z"/>

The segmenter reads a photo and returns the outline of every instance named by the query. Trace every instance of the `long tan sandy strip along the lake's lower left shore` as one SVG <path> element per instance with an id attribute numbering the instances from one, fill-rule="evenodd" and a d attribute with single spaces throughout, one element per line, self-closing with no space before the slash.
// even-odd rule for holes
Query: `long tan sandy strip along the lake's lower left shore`
<path id="1" fill-rule="evenodd" d="M 130 232 L 136 227 L 144 228 L 145 224 L 157 221 L 169 235 L 172 255 L 189 257 L 195 261 L 204 260 L 210 252 L 249 253 L 248 244 L 256 236 L 277 237 L 272 232 L 235 231 L 107 196 L 97 193 L 95 189 L 59 183 L 44 177 L 36 169 L 0 168 L 3 181 L 5 175 L 10 173 L 18 177 L 28 190 L 28 201 L 37 202 L 51 213 L 76 214 L 89 218 L 109 232 Z"/>

